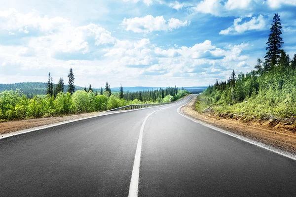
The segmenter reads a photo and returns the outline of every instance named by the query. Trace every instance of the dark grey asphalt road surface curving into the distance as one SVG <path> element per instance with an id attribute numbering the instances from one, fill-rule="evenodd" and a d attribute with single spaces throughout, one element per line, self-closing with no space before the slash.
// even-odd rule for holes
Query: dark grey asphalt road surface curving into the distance
<path id="1" fill-rule="evenodd" d="M 0 139 L 0 197 L 128 196 L 154 111 L 138 196 L 296 196 L 296 161 L 181 116 L 191 97 Z"/>

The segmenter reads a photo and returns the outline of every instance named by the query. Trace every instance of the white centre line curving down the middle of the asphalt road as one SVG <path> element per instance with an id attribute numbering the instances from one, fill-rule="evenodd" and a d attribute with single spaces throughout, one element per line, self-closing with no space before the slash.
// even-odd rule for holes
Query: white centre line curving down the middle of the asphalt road
<path id="1" fill-rule="evenodd" d="M 193 98 L 194 97 L 192 97 L 192 99 Z M 192 99 L 190 99 L 190 101 Z M 160 110 L 163 110 L 163 109 L 167 109 L 169 107 L 173 107 L 173 106 L 182 104 L 182 103 L 187 102 L 187 101 L 188 101 L 188 98 L 186 98 L 182 102 L 179 102 L 178 104 L 171 105 L 171 106 L 168 106 L 168 107 L 161 108 L 161 109 L 158 109 L 156 111 L 153 111 L 152 113 L 148 114 L 148 116 L 145 118 L 145 120 L 144 120 L 144 122 L 142 124 L 141 130 L 140 130 L 139 139 L 138 139 L 138 143 L 137 143 L 137 149 L 136 149 L 135 160 L 134 160 L 133 171 L 132 171 L 132 178 L 131 178 L 130 187 L 129 187 L 129 193 L 128 193 L 128 196 L 129 197 L 138 197 L 143 132 L 144 132 L 145 123 L 146 123 L 148 117 L 150 115 L 152 115 L 153 113 L 157 112 L 157 111 L 160 111 Z"/>

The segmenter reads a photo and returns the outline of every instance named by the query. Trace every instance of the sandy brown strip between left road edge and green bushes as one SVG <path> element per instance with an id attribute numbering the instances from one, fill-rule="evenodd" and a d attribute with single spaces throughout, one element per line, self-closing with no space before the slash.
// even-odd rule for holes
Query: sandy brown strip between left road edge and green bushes
<path id="1" fill-rule="evenodd" d="M 75 115 L 62 116 L 62 117 L 49 117 L 49 118 L 37 118 L 37 119 L 29 119 L 29 120 L 2 122 L 0 123 L 0 134 L 14 132 L 14 131 L 21 131 L 25 129 L 31 129 L 39 126 L 45 126 L 45 125 L 60 123 L 64 121 L 74 120 L 74 119 L 98 116 L 104 113 L 106 112 L 82 113 L 82 114 L 75 114 Z"/>

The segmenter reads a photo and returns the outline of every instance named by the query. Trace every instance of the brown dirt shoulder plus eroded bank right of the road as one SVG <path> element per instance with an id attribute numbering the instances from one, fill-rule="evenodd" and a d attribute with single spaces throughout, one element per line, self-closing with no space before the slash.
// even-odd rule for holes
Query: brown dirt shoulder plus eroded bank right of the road
<path id="1" fill-rule="evenodd" d="M 296 133 L 294 123 L 289 120 L 274 119 L 254 120 L 235 116 L 234 114 L 215 115 L 209 110 L 198 113 L 195 110 L 196 99 L 192 99 L 181 108 L 191 118 L 213 125 L 226 131 L 254 139 L 267 145 L 296 154 Z"/>

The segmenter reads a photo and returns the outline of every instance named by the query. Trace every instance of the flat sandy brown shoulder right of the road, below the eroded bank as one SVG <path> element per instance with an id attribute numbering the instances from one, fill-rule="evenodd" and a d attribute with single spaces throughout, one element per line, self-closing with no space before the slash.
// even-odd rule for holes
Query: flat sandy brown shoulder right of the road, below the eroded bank
<path id="1" fill-rule="evenodd" d="M 252 126 L 254 123 L 243 123 L 236 119 L 224 119 L 212 113 L 198 113 L 195 110 L 195 99 L 192 99 L 191 102 L 182 107 L 181 111 L 191 118 L 204 123 L 296 154 L 296 134 L 293 132 L 276 128 L 271 129 L 266 124 Z"/>

